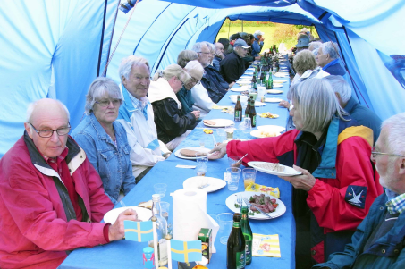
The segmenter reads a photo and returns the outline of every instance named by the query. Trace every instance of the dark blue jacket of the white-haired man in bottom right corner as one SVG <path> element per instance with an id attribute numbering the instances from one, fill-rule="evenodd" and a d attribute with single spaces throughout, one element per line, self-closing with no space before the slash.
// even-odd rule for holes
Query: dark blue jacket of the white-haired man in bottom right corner
<path id="1" fill-rule="evenodd" d="M 400 214 L 392 229 L 363 251 L 375 228 L 384 221 L 387 200 L 385 194 L 375 198 L 367 217 L 359 224 L 344 251 L 333 253 L 326 263 L 313 268 L 405 268 L 405 214 Z"/>

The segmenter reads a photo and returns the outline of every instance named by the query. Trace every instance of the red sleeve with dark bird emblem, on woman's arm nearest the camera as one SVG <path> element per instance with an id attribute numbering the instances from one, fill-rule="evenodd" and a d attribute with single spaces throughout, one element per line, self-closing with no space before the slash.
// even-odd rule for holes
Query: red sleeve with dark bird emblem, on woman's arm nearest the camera
<path id="1" fill-rule="evenodd" d="M 308 206 L 321 227 L 333 231 L 355 230 L 375 198 L 383 193 L 378 180 L 374 180 L 370 155 L 370 145 L 360 137 L 345 139 L 338 146 L 336 179 L 316 179 L 316 184 L 308 191 Z M 345 200 L 350 185 L 367 187 L 364 208 Z"/>

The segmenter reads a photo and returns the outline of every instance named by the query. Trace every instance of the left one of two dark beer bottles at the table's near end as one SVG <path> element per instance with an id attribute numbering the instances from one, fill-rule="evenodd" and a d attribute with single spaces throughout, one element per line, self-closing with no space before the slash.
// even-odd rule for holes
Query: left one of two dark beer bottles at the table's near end
<path id="1" fill-rule="evenodd" d="M 244 269 L 246 266 L 245 259 L 246 242 L 240 229 L 240 214 L 233 214 L 233 227 L 226 244 L 226 268 L 227 269 Z"/>

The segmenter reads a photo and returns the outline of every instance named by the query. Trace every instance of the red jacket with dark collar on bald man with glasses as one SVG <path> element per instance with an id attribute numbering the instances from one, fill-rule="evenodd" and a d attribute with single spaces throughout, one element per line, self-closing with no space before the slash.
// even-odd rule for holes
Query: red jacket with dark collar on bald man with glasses
<path id="1" fill-rule="evenodd" d="M 0 160 L 1 268 L 56 268 L 66 250 L 106 243 L 106 223 L 99 222 L 113 204 L 84 151 L 70 137 L 67 147 L 66 162 L 84 211 L 83 222 L 68 221 L 72 203 L 60 197 L 63 192 L 57 185 L 62 181 L 46 167 L 26 133 Z"/>

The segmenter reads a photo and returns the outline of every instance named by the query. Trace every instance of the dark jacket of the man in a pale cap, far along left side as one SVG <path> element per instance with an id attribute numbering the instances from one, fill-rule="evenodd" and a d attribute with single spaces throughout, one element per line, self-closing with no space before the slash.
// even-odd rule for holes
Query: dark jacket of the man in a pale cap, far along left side
<path id="1" fill-rule="evenodd" d="M 245 72 L 245 62 L 234 51 L 232 54 L 227 55 L 220 65 L 221 74 L 228 83 L 239 80 L 240 76 Z"/>

